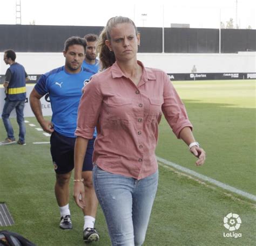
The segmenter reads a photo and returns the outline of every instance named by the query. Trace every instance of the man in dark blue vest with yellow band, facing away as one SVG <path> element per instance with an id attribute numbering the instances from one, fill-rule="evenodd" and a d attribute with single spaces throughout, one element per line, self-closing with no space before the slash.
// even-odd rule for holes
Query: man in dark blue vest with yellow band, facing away
<path id="1" fill-rule="evenodd" d="M 16 143 L 14 129 L 10 122 L 10 114 L 12 110 L 16 110 L 17 122 L 19 125 L 18 144 L 25 145 L 26 127 L 23 117 L 23 111 L 26 101 L 26 79 L 28 74 L 21 64 L 15 62 L 16 54 L 13 50 L 4 52 L 4 62 L 10 65 L 5 73 L 4 88 L 6 93 L 5 104 L 2 113 L 2 119 L 7 138 L 1 142 L 1 145 Z"/>

